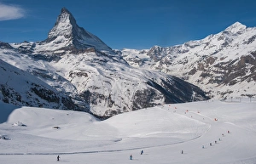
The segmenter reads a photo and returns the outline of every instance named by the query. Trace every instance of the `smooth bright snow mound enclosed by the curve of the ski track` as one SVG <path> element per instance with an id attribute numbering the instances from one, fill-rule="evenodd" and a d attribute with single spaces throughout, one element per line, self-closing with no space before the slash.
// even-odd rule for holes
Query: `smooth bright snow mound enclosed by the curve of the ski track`
<path id="1" fill-rule="evenodd" d="M 106 122 L 119 129 L 121 136 L 142 138 L 186 135 L 189 139 L 194 139 L 205 133 L 210 127 L 204 122 L 170 112 L 168 107 L 137 110 L 113 116 Z"/>

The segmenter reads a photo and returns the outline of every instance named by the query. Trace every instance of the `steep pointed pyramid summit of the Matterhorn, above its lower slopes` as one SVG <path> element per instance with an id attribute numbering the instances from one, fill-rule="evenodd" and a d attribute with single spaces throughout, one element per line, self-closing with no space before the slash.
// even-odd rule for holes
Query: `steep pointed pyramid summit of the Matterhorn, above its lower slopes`
<path id="1" fill-rule="evenodd" d="M 61 14 L 58 16 L 55 26 L 49 31 L 46 42 L 61 44 L 65 48 L 112 50 L 101 39 L 79 27 L 73 14 L 67 8 L 61 8 Z"/>

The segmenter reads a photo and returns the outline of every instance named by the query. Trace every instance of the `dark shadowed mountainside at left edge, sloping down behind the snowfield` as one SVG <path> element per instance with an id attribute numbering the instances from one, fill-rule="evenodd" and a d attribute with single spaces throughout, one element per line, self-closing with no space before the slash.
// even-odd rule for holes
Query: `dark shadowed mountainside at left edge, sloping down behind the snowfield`
<path id="1" fill-rule="evenodd" d="M 72 99 L 40 79 L 0 59 L 0 99 L 20 106 L 78 110 Z"/>

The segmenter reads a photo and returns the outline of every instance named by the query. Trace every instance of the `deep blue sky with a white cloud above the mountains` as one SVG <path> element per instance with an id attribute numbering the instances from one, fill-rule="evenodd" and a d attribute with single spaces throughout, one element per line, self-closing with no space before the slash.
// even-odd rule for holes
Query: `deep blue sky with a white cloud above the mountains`
<path id="1" fill-rule="evenodd" d="M 173 46 L 256 26 L 256 0 L 0 0 L 0 41 L 43 41 L 61 8 L 111 48 Z"/>

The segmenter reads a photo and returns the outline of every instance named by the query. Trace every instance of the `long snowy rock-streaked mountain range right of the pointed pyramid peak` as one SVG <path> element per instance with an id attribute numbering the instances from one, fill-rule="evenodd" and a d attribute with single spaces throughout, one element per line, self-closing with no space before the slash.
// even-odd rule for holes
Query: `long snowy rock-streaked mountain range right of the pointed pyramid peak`
<path id="1" fill-rule="evenodd" d="M 178 76 L 216 99 L 255 96 L 256 27 L 236 22 L 224 31 L 182 45 L 119 51 L 134 67 Z"/>

